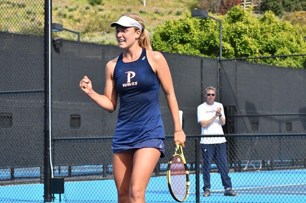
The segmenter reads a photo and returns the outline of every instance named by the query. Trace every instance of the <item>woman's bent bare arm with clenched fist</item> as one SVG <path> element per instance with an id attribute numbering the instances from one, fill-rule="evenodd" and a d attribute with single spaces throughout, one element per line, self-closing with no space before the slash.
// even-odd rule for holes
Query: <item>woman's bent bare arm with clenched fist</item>
<path id="1" fill-rule="evenodd" d="M 94 101 L 100 108 L 102 108 L 103 110 L 109 113 L 114 112 L 114 110 L 116 110 L 117 107 L 118 92 L 116 89 L 115 80 L 113 78 L 115 65 L 116 65 L 116 59 L 106 64 L 106 70 L 105 70 L 106 82 L 105 82 L 104 95 L 100 95 L 92 89 L 91 81 L 88 79 L 87 76 L 84 76 L 84 78 L 80 81 L 80 87 L 82 91 L 89 98 L 91 98 L 91 100 Z"/>

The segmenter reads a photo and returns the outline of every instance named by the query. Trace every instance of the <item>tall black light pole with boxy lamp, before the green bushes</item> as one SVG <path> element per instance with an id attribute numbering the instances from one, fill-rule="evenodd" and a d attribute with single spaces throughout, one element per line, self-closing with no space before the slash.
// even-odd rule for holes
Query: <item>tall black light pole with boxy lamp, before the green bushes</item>
<path id="1" fill-rule="evenodd" d="M 219 83 L 219 63 L 220 60 L 222 59 L 222 20 L 216 19 L 210 15 L 208 15 L 208 11 L 204 11 L 201 9 L 198 10 L 191 10 L 191 16 L 194 18 L 211 18 L 213 20 L 216 20 L 219 22 L 219 44 L 220 44 L 220 49 L 219 49 L 219 60 L 218 60 L 218 69 L 217 69 L 217 95 L 218 95 L 218 102 L 220 101 L 220 94 L 219 94 L 219 87 L 220 87 L 220 83 Z"/>

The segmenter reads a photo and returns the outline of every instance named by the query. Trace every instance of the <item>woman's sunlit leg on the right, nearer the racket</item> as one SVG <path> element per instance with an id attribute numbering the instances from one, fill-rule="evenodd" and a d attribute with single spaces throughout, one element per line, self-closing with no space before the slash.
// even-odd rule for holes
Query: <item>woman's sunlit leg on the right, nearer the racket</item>
<path id="1" fill-rule="evenodd" d="M 130 203 L 144 203 L 144 194 L 153 170 L 159 160 L 160 151 L 156 148 L 141 148 L 134 153 L 133 171 L 130 183 Z"/>

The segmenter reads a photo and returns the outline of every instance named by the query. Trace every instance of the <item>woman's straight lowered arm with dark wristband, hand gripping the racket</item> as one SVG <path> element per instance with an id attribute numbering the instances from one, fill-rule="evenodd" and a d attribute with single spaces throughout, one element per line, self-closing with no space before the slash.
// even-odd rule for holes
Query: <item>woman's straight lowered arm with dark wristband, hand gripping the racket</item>
<path id="1" fill-rule="evenodd" d="M 178 113 L 177 100 L 174 94 L 174 88 L 172 84 L 172 78 L 169 70 L 169 66 L 166 59 L 160 52 L 147 52 L 148 60 L 155 71 L 159 82 L 162 86 L 164 94 L 167 99 L 168 107 L 171 112 L 174 121 L 174 144 L 180 143 L 182 147 L 185 147 L 186 141 L 185 133 L 182 131 L 180 117 Z"/>

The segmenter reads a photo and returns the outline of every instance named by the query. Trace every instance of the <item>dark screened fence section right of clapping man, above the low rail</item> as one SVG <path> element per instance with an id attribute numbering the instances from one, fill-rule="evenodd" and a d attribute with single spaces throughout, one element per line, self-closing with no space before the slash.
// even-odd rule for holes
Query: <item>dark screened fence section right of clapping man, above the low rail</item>
<path id="1" fill-rule="evenodd" d="M 222 61 L 220 72 L 231 133 L 306 132 L 306 70 Z"/>

